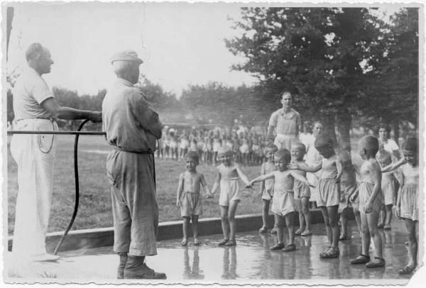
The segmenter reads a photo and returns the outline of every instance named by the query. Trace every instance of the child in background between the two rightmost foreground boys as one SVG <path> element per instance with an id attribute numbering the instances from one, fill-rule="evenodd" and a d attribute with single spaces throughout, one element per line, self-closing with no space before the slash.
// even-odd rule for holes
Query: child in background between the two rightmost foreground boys
<path id="1" fill-rule="evenodd" d="M 392 163 L 392 155 L 386 150 L 379 150 L 376 160 L 381 167 Z M 391 229 L 393 199 L 396 195 L 397 181 L 394 172 L 382 172 L 381 190 L 383 193 L 384 206 L 380 211 L 378 228 Z"/>

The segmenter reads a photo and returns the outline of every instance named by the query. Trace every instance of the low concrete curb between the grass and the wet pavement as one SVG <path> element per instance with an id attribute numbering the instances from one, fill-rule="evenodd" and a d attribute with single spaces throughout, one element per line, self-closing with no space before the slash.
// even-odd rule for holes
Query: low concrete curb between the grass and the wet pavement
<path id="1" fill-rule="evenodd" d="M 349 209 L 348 218 L 354 219 L 351 209 Z M 312 224 L 323 223 L 324 219 L 320 209 L 311 210 Z M 200 236 L 222 233 L 220 218 L 201 218 L 199 220 L 198 231 Z M 236 216 L 237 231 L 254 231 L 262 226 L 262 217 L 258 214 L 248 214 Z M 295 223 L 299 223 L 297 214 Z M 273 215 L 268 217 L 268 226 L 273 226 Z M 49 253 L 53 253 L 56 245 L 63 235 L 61 232 L 48 233 L 46 236 L 46 247 Z M 182 221 L 162 222 L 158 225 L 157 240 L 169 240 L 182 238 Z M 8 248 L 11 251 L 13 238 L 9 236 Z M 114 228 L 92 228 L 83 230 L 74 230 L 65 237 L 59 251 L 79 250 L 84 248 L 98 248 L 112 246 L 114 244 Z"/>

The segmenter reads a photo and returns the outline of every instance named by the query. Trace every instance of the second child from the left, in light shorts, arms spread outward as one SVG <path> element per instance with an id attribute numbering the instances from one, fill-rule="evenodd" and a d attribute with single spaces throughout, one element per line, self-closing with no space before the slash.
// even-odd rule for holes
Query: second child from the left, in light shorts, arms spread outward
<path id="1" fill-rule="evenodd" d="M 235 212 L 241 200 L 238 181 L 241 178 L 245 184 L 249 184 L 249 178 L 233 161 L 231 148 L 222 145 L 217 151 L 217 158 L 221 162 L 217 166 L 217 179 L 214 182 L 212 193 L 220 187 L 219 206 L 222 219 L 222 232 L 224 239 L 218 243 L 219 246 L 233 246 L 235 242 Z"/>

